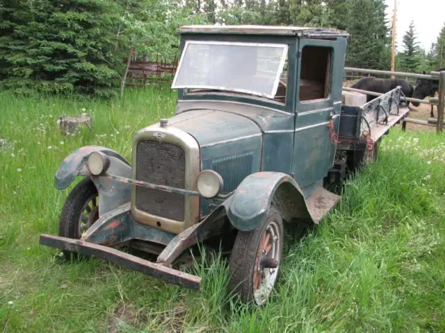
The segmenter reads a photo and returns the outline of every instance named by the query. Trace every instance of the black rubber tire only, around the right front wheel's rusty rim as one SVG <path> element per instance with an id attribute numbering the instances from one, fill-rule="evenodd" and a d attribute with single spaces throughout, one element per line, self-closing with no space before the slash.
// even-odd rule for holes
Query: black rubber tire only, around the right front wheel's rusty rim
<path id="1" fill-rule="evenodd" d="M 230 256 L 229 267 L 232 276 L 229 282 L 229 288 L 231 291 L 234 291 L 241 296 L 241 301 L 243 303 L 248 303 L 250 301 L 255 302 L 253 295 L 253 270 L 258 252 L 259 240 L 269 222 L 273 220 L 277 222 L 277 225 L 281 229 L 280 249 L 282 250 L 284 238 L 282 216 L 273 206 L 270 207 L 266 221 L 259 228 L 248 232 L 238 231 L 238 234 L 236 235 L 235 244 Z M 279 271 L 277 273 L 275 285 L 280 278 L 280 266 L 277 269 Z"/>

